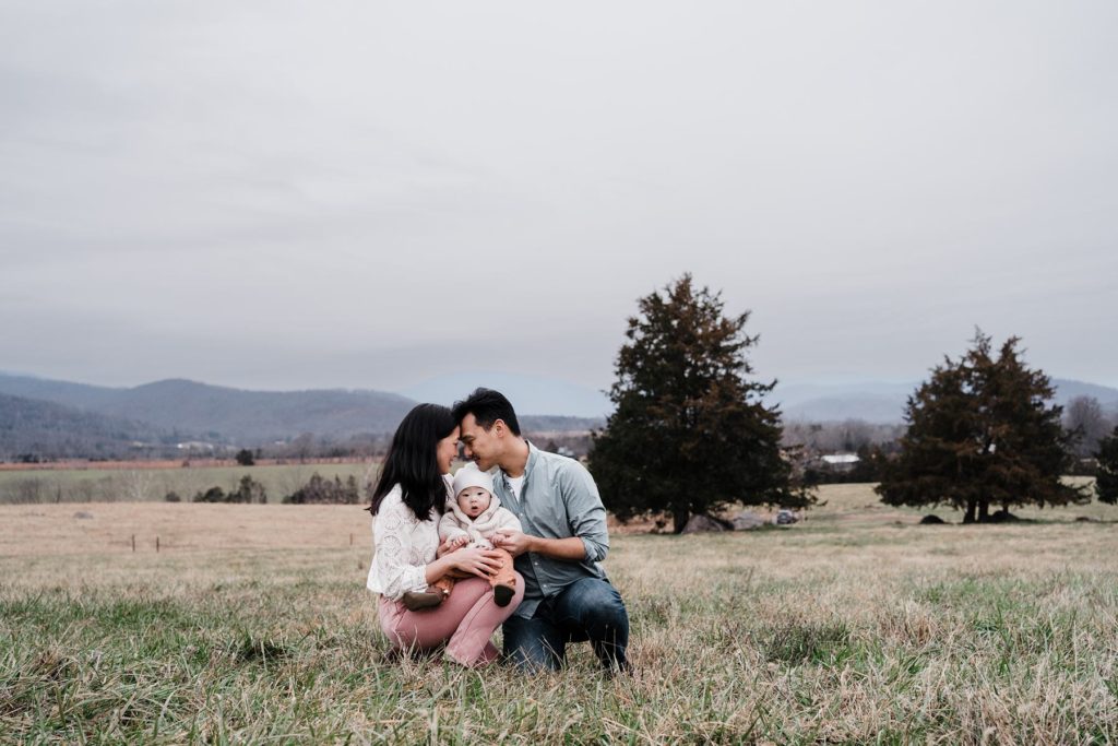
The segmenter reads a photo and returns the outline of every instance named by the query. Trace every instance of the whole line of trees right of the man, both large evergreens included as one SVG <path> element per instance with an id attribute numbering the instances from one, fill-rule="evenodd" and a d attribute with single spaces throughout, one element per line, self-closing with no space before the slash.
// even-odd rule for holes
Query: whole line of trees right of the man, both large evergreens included
<path id="1" fill-rule="evenodd" d="M 786 429 L 765 404 L 776 381 L 752 376 L 747 353 L 758 337 L 745 332 L 748 319 L 727 315 L 721 294 L 690 274 L 637 301 L 614 366 L 614 412 L 589 454 L 618 519 L 666 514 L 679 532 L 689 517 L 733 503 L 811 507 L 819 474 L 808 448 L 840 445 L 835 436 L 859 450 L 852 471 L 880 481 L 883 502 L 949 504 L 967 522 L 1090 500 L 1061 479 L 1084 453 L 1097 460 L 1099 499 L 1118 499 L 1118 428 L 1105 435 L 1097 402 L 1073 402 L 1065 417 L 1017 338 L 995 346 L 977 330 L 966 353 L 945 357 L 909 397 L 896 431 L 846 423 L 824 437 L 822 426 Z"/>

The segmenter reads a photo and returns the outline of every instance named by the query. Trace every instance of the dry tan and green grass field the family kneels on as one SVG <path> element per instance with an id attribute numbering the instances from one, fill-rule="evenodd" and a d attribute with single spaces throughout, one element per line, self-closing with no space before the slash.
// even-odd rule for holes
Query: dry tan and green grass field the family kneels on
<path id="1" fill-rule="evenodd" d="M 822 498 L 616 536 L 613 680 L 586 645 L 528 678 L 390 660 L 356 507 L 2 506 L 0 742 L 1118 740 L 1118 509 L 920 527 L 868 485 Z"/>

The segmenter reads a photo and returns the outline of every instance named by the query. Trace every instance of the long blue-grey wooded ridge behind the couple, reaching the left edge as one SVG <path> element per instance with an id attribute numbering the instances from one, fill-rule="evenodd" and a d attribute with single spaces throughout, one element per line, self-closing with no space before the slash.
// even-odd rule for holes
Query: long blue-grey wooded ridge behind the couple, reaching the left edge
<path id="1" fill-rule="evenodd" d="M 398 394 L 369 390 L 246 391 L 182 379 L 111 388 L 6 374 L 0 374 L 0 394 L 53 405 L 54 409 L 38 410 L 47 427 L 61 421 L 58 407 L 70 415 L 88 415 L 86 419 L 72 417 L 74 432 L 87 442 L 106 438 L 106 444 L 122 438 L 167 440 L 169 433 L 178 434 L 179 440 L 244 445 L 290 440 L 303 433 L 334 440 L 383 435 L 394 432 L 416 404 Z M 30 431 L 34 427 L 28 416 L 21 415 L 20 427 Z M 549 432 L 586 431 L 601 424 L 594 418 L 551 415 L 524 415 L 522 421 L 525 429 Z M 0 426 L 13 427 L 13 422 L 0 419 Z M 122 438 L 110 437 L 114 427 Z"/>

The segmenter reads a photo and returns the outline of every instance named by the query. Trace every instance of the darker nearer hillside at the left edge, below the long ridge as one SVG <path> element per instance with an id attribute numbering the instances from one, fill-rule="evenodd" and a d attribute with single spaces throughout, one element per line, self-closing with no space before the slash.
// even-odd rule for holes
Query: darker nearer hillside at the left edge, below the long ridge
<path id="1" fill-rule="evenodd" d="M 82 412 L 51 402 L 0 394 L 0 459 L 25 454 L 46 459 L 142 455 L 167 433 L 144 423 Z"/>

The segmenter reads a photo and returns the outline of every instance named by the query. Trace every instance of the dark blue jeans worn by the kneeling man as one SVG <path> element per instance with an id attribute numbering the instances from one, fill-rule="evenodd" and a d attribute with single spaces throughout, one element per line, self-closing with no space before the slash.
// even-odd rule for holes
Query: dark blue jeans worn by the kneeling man
<path id="1" fill-rule="evenodd" d="M 607 580 L 585 577 L 544 598 L 531 618 L 510 616 L 502 626 L 504 654 L 520 668 L 559 669 L 568 642 L 590 641 L 609 670 L 627 670 L 628 614 Z"/>

